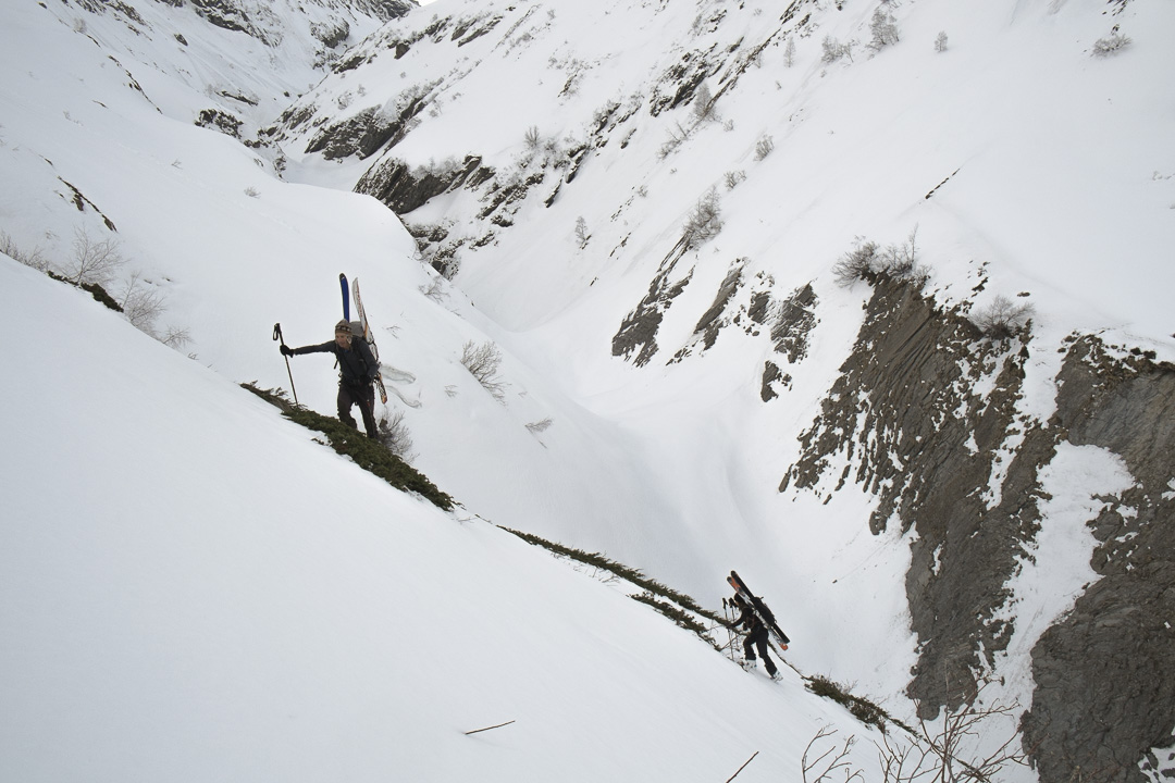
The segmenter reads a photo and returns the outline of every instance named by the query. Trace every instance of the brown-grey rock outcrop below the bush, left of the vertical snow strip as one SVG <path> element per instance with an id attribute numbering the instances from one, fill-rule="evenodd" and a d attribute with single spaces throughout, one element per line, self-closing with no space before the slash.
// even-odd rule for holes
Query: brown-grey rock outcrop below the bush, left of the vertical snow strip
<path id="1" fill-rule="evenodd" d="M 909 695 L 926 717 L 962 703 L 967 690 L 948 683 L 971 682 L 980 650 L 991 657 L 1009 640 L 1010 628 L 993 616 L 1020 545 L 1035 531 L 1034 467 L 1050 455 L 1048 439 L 1033 436 L 1032 448 L 1026 439 L 1008 472 L 1016 488 L 1000 504 L 989 508 L 985 495 L 1026 358 L 980 339 L 961 313 L 936 308 L 916 285 L 879 278 L 854 351 L 780 486 L 815 488 L 841 455 L 835 488 L 852 478 L 878 495 L 874 533 L 891 522 L 916 529 L 906 587 L 920 659 Z M 992 378 L 991 393 L 976 391 Z"/>

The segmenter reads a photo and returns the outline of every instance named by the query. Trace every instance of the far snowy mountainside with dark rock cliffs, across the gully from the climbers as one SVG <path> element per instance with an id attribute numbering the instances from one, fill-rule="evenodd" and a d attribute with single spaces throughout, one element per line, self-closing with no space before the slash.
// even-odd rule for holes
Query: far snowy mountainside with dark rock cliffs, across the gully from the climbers
<path id="1" fill-rule="evenodd" d="M 432 9 L 352 50 L 277 137 L 307 167 L 295 176 L 329 149 L 350 173 L 334 181 L 400 212 L 508 345 L 639 433 L 660 472 L 698 477 L 639 519 L 652 547 L 612 515 L 593 540 L 703 595 L 707 572 L 756 558 L 773 592 L 844 619 L 806 635 L 832 625 L 842 640 L 870 626 L 871 587 L 830 590 L 835 565 L 798 574 L 837 552 L 830 525 L 867 519 L 909 546 L 887 554 L 904 578 L 880 581 L 904 582 L 905 690 L 924 716 L 1002 673 L 1032 704 L 1042 779 L 1140 779 L 1122 760 L 1175 724 L 1169 676 L 1146 674 L 1175 666 L 1161 554 L 1175 546 L 1175 128 L 1154 88 L 1175 65 L 1169 9 Z M 653 28 L 665 46 L 639 43 Z M 356 85 L 382 88 L 364 99 L 383 114 L 336 110 Z M 354 146 L 384 122 L 378 144 Z M 1049 477 L 1072 459 L 1089 479 L 1065 485 L 1069 515 Z M 852 482 L 864 502 L 797 514 Z M 1058 533 L 1066 565 L 1038 567 Z M 710 562 L 679 569 L 683 540 Z M 1075 574 L 1047 605 L 1029 598 Z M 1103 622 L 1107 607 L 1122 619 Z M 875 693 L 905 680 L 900 666 L 852 677 Z"/>

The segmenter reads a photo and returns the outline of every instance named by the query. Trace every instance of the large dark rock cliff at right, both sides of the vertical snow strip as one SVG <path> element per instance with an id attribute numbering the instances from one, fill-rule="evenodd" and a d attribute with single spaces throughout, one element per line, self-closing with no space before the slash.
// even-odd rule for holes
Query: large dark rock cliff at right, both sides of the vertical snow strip
<path id="1" fill-rule="evenodd" d="M 962 310 L 879 279 L 853 353 L 803 436 L 790 485 L 835 477 L 878 497 L 871 528 L 913 528 L 906 578 L 919 661 L 908 694 L 924 717 L 955 708 L 996 667 L 1016 620 L 1008 581 L 1040 529 L 1041 468 L 1059 444 L 1121 457 L 1134 486 L 1087 525 L 1102 579 L 1032 652 L 1035 691 L 1023 745 L 1045 783 L 1143 781 L 1137 762 L 1169 744 L 1175 693 L 1175 367 L 1070 338 L 1056 413 L 1020 413 L 1027 332 L 985 338 Z M 1047 349 L 1045 349 L 1047 350 Z M 1055 350 L 1055 347 L 1053 349 Z M 998 669 L 996 669 L 998 674 Z M 1169 760 L 1154 760 L 1156 769 Z M 1173 772 L 1168 772 L 1173 774 Z"/>

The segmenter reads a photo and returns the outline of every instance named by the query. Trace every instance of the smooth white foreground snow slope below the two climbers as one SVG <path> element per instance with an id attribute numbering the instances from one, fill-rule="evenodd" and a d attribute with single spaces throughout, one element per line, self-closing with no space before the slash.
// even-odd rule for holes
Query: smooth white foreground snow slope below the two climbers
<path id="1" fill-rule="evenodd" d="M 0 331 L 0 778 L 768 781 L 864 733 L 7 257 Z"/>

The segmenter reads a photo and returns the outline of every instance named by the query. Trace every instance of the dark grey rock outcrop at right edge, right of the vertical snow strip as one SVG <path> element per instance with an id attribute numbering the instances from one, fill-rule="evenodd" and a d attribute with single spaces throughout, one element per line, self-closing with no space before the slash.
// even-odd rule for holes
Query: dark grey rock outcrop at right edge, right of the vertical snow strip
<path id="1" fill-rule="evenodd" d="M 1142 783 L 1139 761 L 1175 725 L 1175 367 L 1082 337 L 1058 385 L 1058 431 L 1120 455 L 1136 484 L 1090 520 L 1102 579 L 1033 649 L 1025 745 L 1041 781 Z"/>

